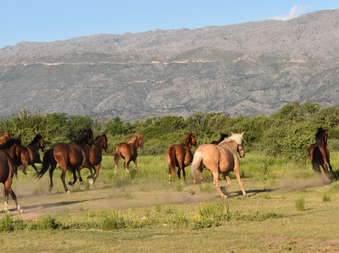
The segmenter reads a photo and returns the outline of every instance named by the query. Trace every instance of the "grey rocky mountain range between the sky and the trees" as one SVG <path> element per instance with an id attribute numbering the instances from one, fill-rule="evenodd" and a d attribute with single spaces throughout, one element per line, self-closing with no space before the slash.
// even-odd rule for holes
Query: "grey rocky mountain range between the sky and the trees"
<path id="1" fill-rule="evenodd" d="M 337 106 L 339 9 L 197 29 L 94 34 L 0 49 L 0 117 L 19 110 L 144 120 Z"/>

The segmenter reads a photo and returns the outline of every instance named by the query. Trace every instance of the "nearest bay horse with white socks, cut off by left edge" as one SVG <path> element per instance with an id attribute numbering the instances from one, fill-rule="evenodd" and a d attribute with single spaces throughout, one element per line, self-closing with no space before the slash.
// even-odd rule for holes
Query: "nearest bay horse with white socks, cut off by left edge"
<path id="1" fill-rule="evenodd" d="M 21 136 L 18 138 L 11 138 L 5 144 L 0 146 L 0 182 L 4 184 L 5 188 L 5 207 L 8 211 L 8 194 L 11 194 L 19 213 L 24 213 L 18 204 L 17 196 L 12 190 L 12 179 L 14 176 L 15 166 L 21 165 Z"/>

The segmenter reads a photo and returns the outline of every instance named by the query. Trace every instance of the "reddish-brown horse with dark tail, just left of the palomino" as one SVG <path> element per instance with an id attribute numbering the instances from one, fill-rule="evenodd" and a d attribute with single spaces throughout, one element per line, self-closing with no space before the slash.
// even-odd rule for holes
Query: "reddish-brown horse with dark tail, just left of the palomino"
<path id="1" fill-rule="evenodd" d="M 185 133 L 185 140 L 181 145 L 175 144 L 167 148 L 166 160 L 168 164 L 169 181 L 168 187 L 171 187 L 171 174 L 177 173 L 178 178 L 182 184 L 180 178 L 180 171 L 182 170 L 182 176 L 184 177 L 184 183 L 186 184 L 186 172 L 185 167 L 191 164 L 193 160 L 193 154 L 191 151 L 191 145 L 198 147 L 198 143 L 193 133 Z M 178 172 L 176 170 L 178 167 Z"/>

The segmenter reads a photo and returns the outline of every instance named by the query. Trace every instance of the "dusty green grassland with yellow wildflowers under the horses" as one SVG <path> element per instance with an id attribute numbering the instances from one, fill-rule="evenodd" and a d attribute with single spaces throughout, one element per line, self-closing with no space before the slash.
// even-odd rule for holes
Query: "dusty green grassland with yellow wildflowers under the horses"
<path id="1" fill-rule="evenodd" d="M 331 154 L 336 164 L 339 154 Z M 190 167 L 188 185 L 172 175 L 164 157 L 139 157 L 138 170 L 113 177 L 113 158 L 105 156 L 94 186 L 70 187 L 64 194 L 60 171 L 54 172 L 52 194 L 48 173 L 41 180 L 19 172 L 13 189 L 26 212 L 0 214 L 0 250 L 11 252 L 335 252 L 339 182 L 315 177 L 309 162 L 300 165 L 261 155 L 240 159 L 245 191 L 234 174 L 221 200 L 210 172 L 197 194 Z M 131 163 L 131 168 L 134 165 Z M 86 178 L 88 170 L 83 169 Z M 67 175 L 71 181 L 72 175 Z M 225 185 L 220 181 L 220 185 Z M 3 203 L 0 204 L 3 210 Z"/>

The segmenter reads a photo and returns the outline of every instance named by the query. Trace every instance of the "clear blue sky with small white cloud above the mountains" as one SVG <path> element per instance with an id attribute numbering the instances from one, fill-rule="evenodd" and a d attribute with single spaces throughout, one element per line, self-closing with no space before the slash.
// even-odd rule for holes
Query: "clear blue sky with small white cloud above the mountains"
<path id="1" fill-rule="evenodd" d="M 0 48 L 20 41 L 50 42 L 95 33 L 123 34 L 290 19 L 339 8 L 339 1 L 16 1 L 0 3 Z"/>

